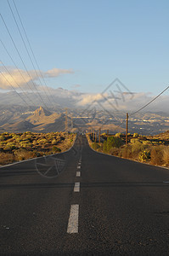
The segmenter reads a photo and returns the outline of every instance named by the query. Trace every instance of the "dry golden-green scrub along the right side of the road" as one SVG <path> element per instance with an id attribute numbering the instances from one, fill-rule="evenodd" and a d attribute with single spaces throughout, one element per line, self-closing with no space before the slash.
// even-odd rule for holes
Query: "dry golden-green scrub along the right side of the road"
<path id="1" fill-rule="evenodd" d="M 88 143 L 94 150 L 155 166 L 169 167 L 169 131 L 154 137 L 139 136 L 138 133 L 128 134 L 127 145 L 126 137 L 121 133 L 114 136 L 106 136 L 104 133 L 101 137 L 104 143 L 93 141 L 93 137 L 87 134 Z"/>

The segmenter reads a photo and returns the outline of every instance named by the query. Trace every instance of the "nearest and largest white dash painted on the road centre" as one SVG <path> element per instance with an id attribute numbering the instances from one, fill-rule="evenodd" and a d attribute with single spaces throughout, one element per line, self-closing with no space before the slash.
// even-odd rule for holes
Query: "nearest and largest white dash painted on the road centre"
<path id="1" fill-rule="evenodd" d="M 78 233 L 79 205 L 71 205 L 67 233 Z"/>

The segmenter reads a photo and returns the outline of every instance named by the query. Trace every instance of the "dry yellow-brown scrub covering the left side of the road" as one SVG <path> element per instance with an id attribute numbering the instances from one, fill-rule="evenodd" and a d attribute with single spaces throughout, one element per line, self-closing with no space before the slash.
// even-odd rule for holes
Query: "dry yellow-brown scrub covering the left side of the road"
<path id="1" fill-rule="evenodd" d="M 0 134 L 0 165 L 56 154 L 69 149 L 76 135 L 65 132 Z"/>

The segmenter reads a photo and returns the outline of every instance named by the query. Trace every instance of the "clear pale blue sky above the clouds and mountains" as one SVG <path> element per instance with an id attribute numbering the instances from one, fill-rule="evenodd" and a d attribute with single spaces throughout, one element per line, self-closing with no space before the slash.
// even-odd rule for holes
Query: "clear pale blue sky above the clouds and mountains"
<path id="1" fill-rule="evenodd" d="M 73 90 L 80 85 L 76 90 L 99 93 L 118 78 L 131 91 L 156 95 L 168 85 L 168 1 L 14 1 L 41 70 L 73 71 L 49 77 L 49 86 Z M 1 1 L 0 10 L 31 70 L 7 1 Z M 0 38 L 24 69 L 2 20 L 0 29 Z M 2 45 L 0 51 L 1 61 L 12 67 Z"/>

